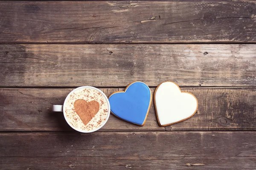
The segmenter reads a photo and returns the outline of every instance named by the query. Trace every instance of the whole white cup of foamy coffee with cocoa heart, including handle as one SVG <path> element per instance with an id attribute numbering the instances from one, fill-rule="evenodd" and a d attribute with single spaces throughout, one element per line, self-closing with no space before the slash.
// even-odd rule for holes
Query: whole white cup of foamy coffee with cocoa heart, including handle
<path id="1" fill-rule="evenodd" d="M 59 106 L 62 105 L 53 105 L 53 111 L 59 111 Z M 89 133 L 105 125 L 110 115 L 110 104 L 107 96 L 99 89 L 82 86 L 67 95 L 63 113 L 73 129 Z"/>

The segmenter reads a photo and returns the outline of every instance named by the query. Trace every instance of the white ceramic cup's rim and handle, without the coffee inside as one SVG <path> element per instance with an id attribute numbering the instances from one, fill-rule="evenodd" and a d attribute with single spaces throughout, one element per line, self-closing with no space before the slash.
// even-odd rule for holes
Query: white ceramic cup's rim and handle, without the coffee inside
<path id="1" fill-rule="evenodd" d="M 94 90 L 96 90 L 96 91 L 99 91 L 99 92 L 104 96 L 104 98 L 106 99 L 107 104 L 108 104 L 108 116 L 107 116 L 105 122 L 103 122 L 102 125 L 100 125 L 99 127 L 95 128 L 95 129 L 93 129 L 93 130 L 89 130 L 89 131 L 88 131 L 88 130 L 81 130 L 81 129 L 77 129 L 77 128 L 73 127 L 73 126 L 70 124 L 70 122 L 67 120 L 66 113 L 64 112 L 64 111 L 66 110 L 66 109 L 65 109 L 65 108 L 66 108 L 66 102 L 67 102 L 67 99 L 69 99 L 69 96 L 70 96 L 71 94 L 73 94 L 75 91 L 77 91 L 77 90 L 79 90 L 79 89 L 83 89 L 83 88 L 91 88 L 91 89 L 94 89 Z M 75 130 L 77 130 L 77 131 L 79 131 L 79 132 L 82 132 L 82 133 L 90 133 L 90 132 L 94 132 L 94 131 L 96 131 L 96 130 L 99 130 L 99 129 L 102 128 L 102 126 L 104 126 L 105 123 L 108 121 L 108 118 L 109 118 L 109 115 L 110 115 L 110 104 L 109 104 L 109 101 L 108 101 L 108 97 L 107 97 L 101 90 L 99 90 L 98 88 L 91 87 L 91 86 L 81 86 L 81 87 L 79 87 L 79 88 L 74 89 L 73 91 L 71 91 L 71 92 L 67 95 L 67 97 L 66 97 L 66 99 L 65 99 L 63 105 L 53 105 L 53 106 L 52 106 L 52 111 L 55 111 L 55 112 L 63 112 L 66 122 L 67 122 L 68 125 L 70 125 L 70 127 L 72 127 L 73 129 L 75 129 Z"/>

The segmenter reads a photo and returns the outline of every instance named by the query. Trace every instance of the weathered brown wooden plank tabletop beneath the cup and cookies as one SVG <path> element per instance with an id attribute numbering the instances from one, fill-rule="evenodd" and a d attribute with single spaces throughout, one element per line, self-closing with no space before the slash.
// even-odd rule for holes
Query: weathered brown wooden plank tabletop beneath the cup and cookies
<path id="1" fill-rule="evenodd" d="M 184 122 L 111 115 L 74 131 L 53 104 L 91 85 L 173 81 Z M 256 169 L 256 1 L 0 1 L 1 170 Z"/>

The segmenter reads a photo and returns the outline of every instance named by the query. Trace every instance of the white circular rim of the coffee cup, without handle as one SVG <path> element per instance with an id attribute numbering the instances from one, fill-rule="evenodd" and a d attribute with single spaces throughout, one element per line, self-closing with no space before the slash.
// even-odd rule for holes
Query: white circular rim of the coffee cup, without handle
<path id="1" fill-rule="evenodd" d="M 99 91 L 99 92 L 104 96 L 104 98 L 106 99 L 107 104 L 108 104 L 108 116 L 107 116 L 105 122 L 103 122 L 102 125 L 100 125 L 100 126 L 97 127 L 96 129 L 89 130 L 89 131 L 88 131 L 88 130 L 79 130 L 79 129 L 76 129 L 75 127 L 73 127 L 73 126 L 70 124 L 70 122 L 67 121 L 67 116 L 66 116 L 66 112 L 65 112 L 67 99 L 69 98 L 69 96 L 70 96 L 71 94 L 73 94 L 75 91 L 77 91 L 77 90 L 79 90 L 79 89 L 81 89 L 81 88 L 91 88 L 91 89 L 94 89 L 94 90 L 96 90 L 96 91 Z M 70 125 L 70 127 L 72 127 L 74 130 L 79 131 L 79 132 L 81 132 L 81 133 L 91 133 L 91 132 L 95 132 L 95 131 L 99 130 L 100 128 L 102 128 L 102 127 L 106 124 L 106 122 L 108 121 L 108 118 L 109 118 L 109 116 L 110 116 L 110 103 L 109 103 L 109 101 L 108 101 L 108 97 L 107 97 L 101 90 L 99 90 L 98 88 L 95 88 L 95 87 L 92 87 L 92 86 L 80 86 L 80 87 L 78 87 L 78 88 L 75 88 L 73 91 L 71 91 L 71 92 L 67 95 L 67 97 L 66 97 L 66 99 L 65 99 L 65 101 L 64 101 L 64 104 L 63 104 L 63 115 L 64 115 L 64 118 L 65 118 L 67 124 Z"/>

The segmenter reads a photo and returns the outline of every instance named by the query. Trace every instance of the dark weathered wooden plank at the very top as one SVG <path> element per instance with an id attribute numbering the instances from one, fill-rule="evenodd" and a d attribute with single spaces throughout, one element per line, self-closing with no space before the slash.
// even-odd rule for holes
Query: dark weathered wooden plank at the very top
<path id="1" fill-rule="evenodd" d="M 255 11 L 253 0 L 1 1 L 0 43 L 256 42 Z"/>

